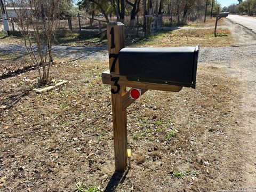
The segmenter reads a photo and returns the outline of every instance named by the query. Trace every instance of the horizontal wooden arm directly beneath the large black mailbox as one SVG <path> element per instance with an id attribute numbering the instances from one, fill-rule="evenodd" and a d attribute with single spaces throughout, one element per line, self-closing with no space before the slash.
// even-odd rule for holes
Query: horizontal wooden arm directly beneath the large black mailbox
<path id="1" fill-rule="evenodd" d="M 110 74 L 109 71 L 105 71 L 101 74 L 103 84 L 114 85 L 115 82 L 111 81 L 112 77 L 119 77 L 119 80 L 117 83 L 120 86 L 136 87 L 142 90 L 146 89 L 146 90 L 179 92 L 182 89 L 182 86 L 128 81 L 125 76 L 118 75 L 118 74 Z"/>

